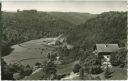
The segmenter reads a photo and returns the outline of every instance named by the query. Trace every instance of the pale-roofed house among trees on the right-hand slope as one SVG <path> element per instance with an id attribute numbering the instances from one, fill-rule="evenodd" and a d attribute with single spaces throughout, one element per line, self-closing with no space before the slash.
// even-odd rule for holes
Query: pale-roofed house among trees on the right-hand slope
<path id="1" fill-rule="evenodd" d="M 118 44 L 96 44 L 93 48 L 93 53 L 98 57 L 102 56 L 106 61 L 109 61 L 111 53 L 119 49 Z"/>

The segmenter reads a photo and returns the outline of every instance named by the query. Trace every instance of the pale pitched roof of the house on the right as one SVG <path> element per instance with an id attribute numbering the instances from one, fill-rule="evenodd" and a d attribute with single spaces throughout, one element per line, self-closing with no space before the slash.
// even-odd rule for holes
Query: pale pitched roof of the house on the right
<path id="1" fill-rule="evenodd" d="M 119 50 L 118 44 L 96 44 L 97 52 L 114 52 Z"/>

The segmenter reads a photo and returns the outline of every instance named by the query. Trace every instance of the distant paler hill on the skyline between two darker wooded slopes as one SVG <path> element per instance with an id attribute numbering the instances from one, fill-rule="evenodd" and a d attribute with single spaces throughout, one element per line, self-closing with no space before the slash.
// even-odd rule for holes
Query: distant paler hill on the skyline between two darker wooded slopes
<path id="1" fill-rule="evenodd" d="M 49 15 L 79 25 L 85 23 L 88 19 L 96 17 L 96 14 L 79 12 L 50 12 Z"/>

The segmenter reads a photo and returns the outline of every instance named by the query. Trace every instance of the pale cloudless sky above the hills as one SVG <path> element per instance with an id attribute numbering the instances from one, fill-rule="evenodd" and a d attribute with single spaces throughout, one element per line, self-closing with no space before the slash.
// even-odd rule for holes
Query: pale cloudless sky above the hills
<path id="1" fill-rule="evenodd" d="M 4 0 L 3 11 L 36 9 L 38 11 L 56 12 L 83 12 L 100 14 L 108 11 L 126 11 L 126 1 L 78 1 L 78 0 Z"/>

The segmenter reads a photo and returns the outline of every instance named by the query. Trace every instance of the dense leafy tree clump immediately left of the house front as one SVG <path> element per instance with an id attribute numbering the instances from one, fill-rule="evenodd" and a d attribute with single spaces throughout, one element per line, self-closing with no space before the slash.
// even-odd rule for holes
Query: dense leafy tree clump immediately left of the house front
<path id="1" fill-rule="evenodd" d="M 99 74 L 102 71 L 101 69 L 101 61 L 94 54 L 92 54 L 91 50 L 85 51 L 83 56 L 80 59 L 80 64 L 85 68 L 87 73 L 91 74 Z"/>

